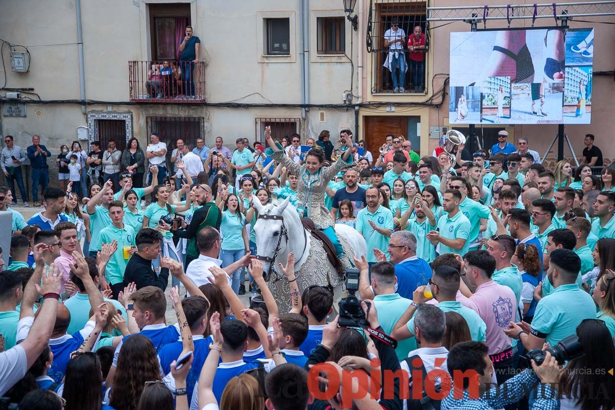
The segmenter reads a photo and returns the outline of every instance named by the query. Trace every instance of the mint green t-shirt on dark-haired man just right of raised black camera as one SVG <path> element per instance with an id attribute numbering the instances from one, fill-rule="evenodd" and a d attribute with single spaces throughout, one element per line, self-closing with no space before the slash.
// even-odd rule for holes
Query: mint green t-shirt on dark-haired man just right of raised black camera
<path id="1" fill-rule="evenodd" d="M 378 321 L 382 326 L 384 333 L 391 334 L 395 323 L 402 317 L 403 313 L 408 309 L 412 301 L 402 298 L 399 293 L 379 294 L 374 298 L 374 306 L 378 312 Z M 408 357 L 408 353 L 416 349 L 416 338 L 410 337 L 403 341 L 397 342 L 397 358 L 403 360 Z"/>

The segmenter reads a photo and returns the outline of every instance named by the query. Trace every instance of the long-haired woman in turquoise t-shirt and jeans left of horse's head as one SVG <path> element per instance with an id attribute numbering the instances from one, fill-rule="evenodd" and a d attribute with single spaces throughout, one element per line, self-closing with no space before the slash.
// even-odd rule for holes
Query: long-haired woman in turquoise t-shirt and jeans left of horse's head
<path id="1" fill-rule="evenodd" d="M 222 259 L 222 267 L 226 267 L 239 261 L 250 249 L 250 243 L 248 243 L 248 234 L 245 231 L 245 217 L 239 210 L 239 198 L 235 194 L 222 195 L 226 195 L 226 198 L 223 196 L 224 204 L 221 207 L 220 234 L 222 235 L 222 245 L 220 259 Z M 242 270 L 237 269 L 231 275 L 231 288 L 235 294 L 240 294 L 240 285 L 243 285 L 239 282 Z"/>

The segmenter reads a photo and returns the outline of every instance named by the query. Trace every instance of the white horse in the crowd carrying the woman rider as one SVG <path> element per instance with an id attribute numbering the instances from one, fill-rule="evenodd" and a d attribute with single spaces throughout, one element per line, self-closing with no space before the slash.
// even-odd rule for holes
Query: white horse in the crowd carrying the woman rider
<path id="1" fill-rule="evenodd" d="M 256 233 L 256 249 L 258 258 L 263 261 L 264 273 L 271 270 L 268 287 L 281 307 L 290 308 L 290 286 L 278 263 L 286 264 L 288 254 L 295 254 L 295 276 L 300 291 L 310 285 L 331 285 L 334 289 L 334 300 L 341 296 L 344 278 L 340 277 L 331 262 L 322 242 L 312 238 L 289 199 L 275 200 L 273 203 L 261 205 L 259 200 L 253 201 L 258 219 L 254 224 Z M 347 255 L 367 255 L 367 243 L 359 232 L 344 224 L 336 224 L 335 232 L 340 242 L 346 242 Z M 352 259 L 351 259 L 352 260 Z"/>

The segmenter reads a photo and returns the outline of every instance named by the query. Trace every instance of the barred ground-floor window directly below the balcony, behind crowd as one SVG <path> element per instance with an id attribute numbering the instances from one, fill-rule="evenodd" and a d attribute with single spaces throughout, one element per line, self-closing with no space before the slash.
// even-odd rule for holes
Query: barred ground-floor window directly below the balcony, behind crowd
<path id="1" fill-rule="evenodd" d="M 161 142 L 167 144 L 167 169 L 177 140 L 196 147 L 196 140 L 205 136 L 205 119 L 203 117 L 147 117 L 148 138 L 156 133 Z"/>

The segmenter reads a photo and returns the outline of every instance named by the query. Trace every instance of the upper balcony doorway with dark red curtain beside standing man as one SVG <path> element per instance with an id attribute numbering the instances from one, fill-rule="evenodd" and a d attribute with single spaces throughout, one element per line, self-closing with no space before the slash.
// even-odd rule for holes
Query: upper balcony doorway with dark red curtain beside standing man
<path id="1" fill-rule="evenodd" d="M 149 4 L 149 34 L 153 60 L 179 60 L 180 42 L 184 29 L 189 25 L 188 3 Z"/>

